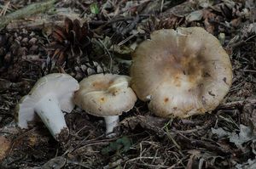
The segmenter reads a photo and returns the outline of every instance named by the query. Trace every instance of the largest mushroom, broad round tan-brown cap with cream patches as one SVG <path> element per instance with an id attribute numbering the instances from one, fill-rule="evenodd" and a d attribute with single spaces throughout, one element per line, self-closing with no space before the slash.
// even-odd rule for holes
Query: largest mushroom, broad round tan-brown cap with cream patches
<path id="1" fill-rule="evenodd" d="M 200 27 L 154 31 L 132 59 L 132 89 L 162 117 L 214 110 L 232 82 L 229 55 Z"/>

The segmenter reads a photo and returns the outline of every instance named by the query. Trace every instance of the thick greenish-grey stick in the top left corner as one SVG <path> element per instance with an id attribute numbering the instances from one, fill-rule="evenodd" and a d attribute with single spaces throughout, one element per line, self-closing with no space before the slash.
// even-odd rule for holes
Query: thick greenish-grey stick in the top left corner
<path id="1" fill-rule="evenodd" d="M 32 14 L 37 14 L 44 12 L 51 8 L 55 0 L 49 0 L 44 3 L 33 3 L 24 8 L 20 8 L 11 14 L 7 14 L 5 16 L 0 17 L 0 31 L 9 24 L 12 20 L 19 20 L 21 18 L 25 18 L 31 16 Z"/>

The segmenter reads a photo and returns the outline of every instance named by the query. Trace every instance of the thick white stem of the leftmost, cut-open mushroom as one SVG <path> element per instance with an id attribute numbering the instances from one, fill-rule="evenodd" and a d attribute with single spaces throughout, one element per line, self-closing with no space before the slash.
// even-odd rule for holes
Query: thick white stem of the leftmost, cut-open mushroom
<path id="1" fill-rule="evenodd" d="M 35 107 L 35 111 L 55 139 L 62 129 L 67 130 L 64 115 L 54 93 L 49 93 L 43 99 L 40 99 Z"/>

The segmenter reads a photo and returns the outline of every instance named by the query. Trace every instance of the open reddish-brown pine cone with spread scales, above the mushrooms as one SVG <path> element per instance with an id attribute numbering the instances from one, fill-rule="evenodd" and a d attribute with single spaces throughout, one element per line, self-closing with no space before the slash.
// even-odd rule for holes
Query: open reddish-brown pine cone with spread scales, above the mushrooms
<path id="1" fill-rule="evenodd" d="M 92 32 L 86 23 L 80 26 L 79 20 L 65 19 L 64 27 L 55 25 L 52 32 L 54 42 L 50 47 L 54 50 L 53 54 L 49 54 L 51 59 L 57 65 L 73 65 L 75 61 L 79 63 L 80 57 L 90 54 L 92 45 Z"/>

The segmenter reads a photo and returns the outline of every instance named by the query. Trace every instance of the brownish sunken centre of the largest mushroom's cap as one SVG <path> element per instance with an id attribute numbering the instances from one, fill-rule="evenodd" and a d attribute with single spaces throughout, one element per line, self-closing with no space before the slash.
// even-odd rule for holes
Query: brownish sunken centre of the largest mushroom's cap
<path id="1" fill-rule="evenodd" d="M 174 87 L 189 90 L 201 84 L 202 77 L 205 76 L 205 61 L 198 54 L 162 54 L 159 59 L 155 63 L 155 69 L 161 68 L 166 74 L 162 82 L 171 82 Z"/>

